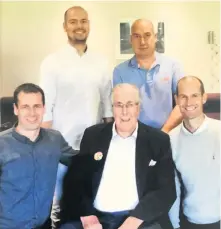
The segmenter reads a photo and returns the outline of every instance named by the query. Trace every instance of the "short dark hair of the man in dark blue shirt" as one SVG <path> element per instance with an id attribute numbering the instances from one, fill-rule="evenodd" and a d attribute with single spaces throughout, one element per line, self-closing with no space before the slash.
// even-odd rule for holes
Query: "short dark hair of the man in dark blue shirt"
<path id="1" fill-rule="evenodd" d="M 24 83 L 18 86 L 14 91 L 14 104 L 18 106 L 18 95 L 20 92 L 24 93 L 40 93 L 42 97 L 42 103 L 45 105 L 45 94 L 44 91 L 36 84 L 33 83 Z"/>

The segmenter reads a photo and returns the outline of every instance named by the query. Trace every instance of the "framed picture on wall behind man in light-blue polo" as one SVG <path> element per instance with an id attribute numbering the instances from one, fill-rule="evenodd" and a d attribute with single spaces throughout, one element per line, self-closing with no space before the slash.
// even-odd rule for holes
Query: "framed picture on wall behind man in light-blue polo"
<path id="1" fill-rule="evenodd" d="M 116 52 L 117 59 L 130 59 L 134 53 L 130 44 L 130 28 L 132 23 L 135 20 L 121 20 L 117 25 L 117 42 L 116 42 Z M 159 53 L 165 52 L 165 44 L 164 44 L 164 22 L 157 23 L 157 42 L 156 42 L 156 51 Z"/>

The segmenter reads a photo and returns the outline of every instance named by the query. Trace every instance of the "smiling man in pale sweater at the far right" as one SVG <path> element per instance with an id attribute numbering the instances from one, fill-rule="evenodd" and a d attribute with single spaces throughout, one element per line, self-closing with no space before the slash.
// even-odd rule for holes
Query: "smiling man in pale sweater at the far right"
<path id="1" fill-rule="evenodd" d="M 194 76 L 177 85 L 183 123 L 170 132 L 176 164 L 177 200 L 170 210 L 174 228 L 220 228 L 220 121 L 203 113 L 207 96 Z"/>

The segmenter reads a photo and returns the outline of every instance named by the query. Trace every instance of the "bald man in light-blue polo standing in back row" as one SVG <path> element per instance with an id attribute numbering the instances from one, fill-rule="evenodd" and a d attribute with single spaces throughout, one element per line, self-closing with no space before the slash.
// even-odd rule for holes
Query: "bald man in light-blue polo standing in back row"
<path id="1" fill-rule="evenodd" d="M 179 108 L 173 109 L 173 95 L 183 72 L 177 62 L 155 51 L 157 39 L 151 21 L 136 20 L 130 38 L 135 55 L 115 67 L 113 85 L 136 85 L 141 93 L 139 120 L 167 133 L 182 120 Z"/>

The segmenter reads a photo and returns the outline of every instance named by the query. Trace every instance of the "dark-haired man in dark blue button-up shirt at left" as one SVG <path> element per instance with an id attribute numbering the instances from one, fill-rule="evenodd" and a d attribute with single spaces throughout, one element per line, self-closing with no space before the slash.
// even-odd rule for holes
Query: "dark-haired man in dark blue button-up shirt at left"
<path id="1" fill-rule="evenodd" d="M 40 229 L 50 214 L 61 155 L 73 154 L 62 135 L 40 128 L 43 90 L 22 84 L 14 92 L 18 123 L 0 134 L 0 228 Z"/>

